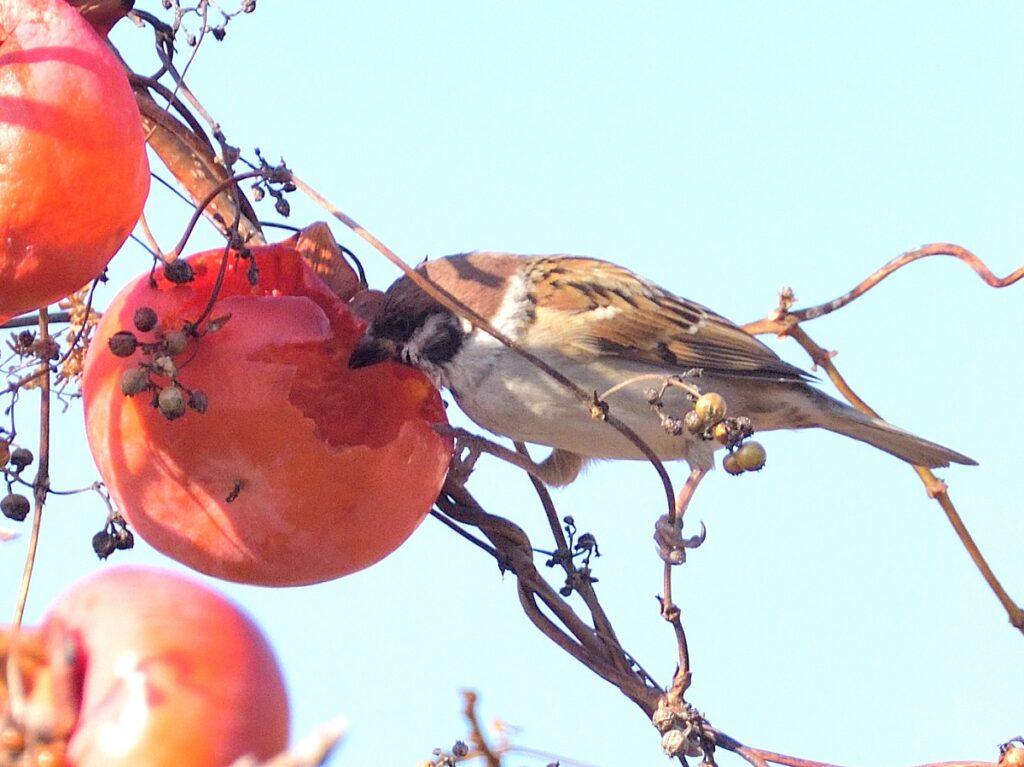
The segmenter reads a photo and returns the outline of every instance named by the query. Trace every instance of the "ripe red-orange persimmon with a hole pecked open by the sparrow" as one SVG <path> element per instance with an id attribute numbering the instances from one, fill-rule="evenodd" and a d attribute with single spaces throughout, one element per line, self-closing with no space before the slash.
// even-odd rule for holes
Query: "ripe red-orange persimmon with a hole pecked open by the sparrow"
<path id="1" fill-rule="evenodd" d="M 440 395 L 404 366 L 350 371 L 366 323 L 289 245 L 224 259 L 188 258 L 191 282 L 143 275 L 105 311 L 83 381 L 99 473 L 139 537 L 211 576 L 283 586 L 361 569 L 440 488 Z M 128 356 L 112 352 L 120 333 L 137 339 Z"/>

